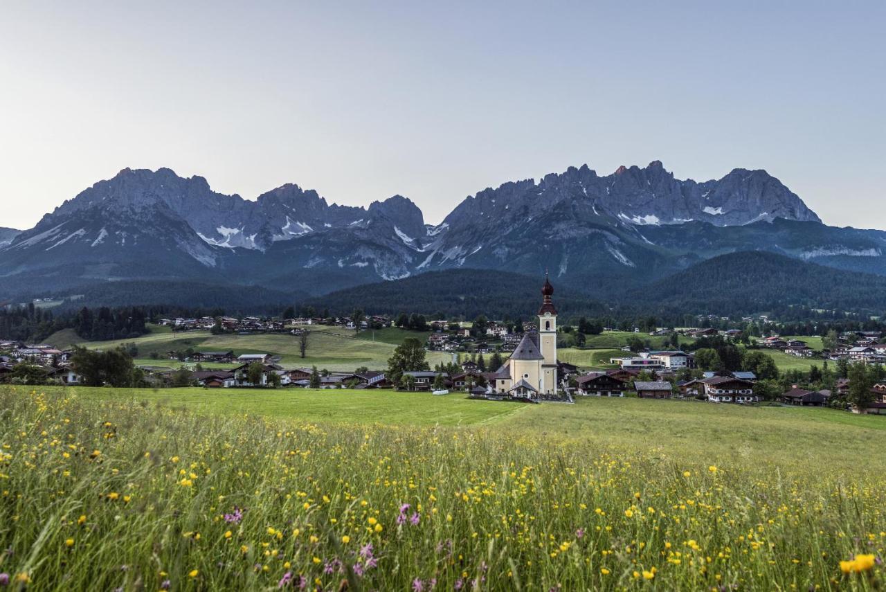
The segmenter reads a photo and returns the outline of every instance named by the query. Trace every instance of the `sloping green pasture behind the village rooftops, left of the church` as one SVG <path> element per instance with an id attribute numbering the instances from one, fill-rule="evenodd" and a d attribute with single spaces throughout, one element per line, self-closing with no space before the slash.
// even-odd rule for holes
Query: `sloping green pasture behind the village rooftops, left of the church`
<path id="1" fill-rule="evenodd" d="M 161 328 L 166 329 L 166 328 Z M 385 332 L 386 331 L 386 332 Z M 123 344 L 134 343 L 138 347 L 138 358 L 147 365 L 175 366 L 174 361 L 167 360 L 167 352 L 191 349 L 234 350 L 239 354 L 268 353 L 280 355 L 282 364 L 287 368 L 311 367 L 327 370 L 350 370 L 366 366 L 370 370 L 381 370 L 387 366 L 388 358 L 393 354 L 399 343 L 397 339 L 411 335 L 423 336 L 422 333 L 402 331 L 400 329 L 377 331 L 377 339 L 372 341 L 371 334 L 361 332 L 354 337 L 354 331 L 339 328 L 317 328 L 311 331 L 308 338 L 307 357 L 300 357 L 299 338 L 289 334 L 260 335 L 212 335 L 209 331 L 152 331 L 136 339 L 118 339 L 116 341 L 90 341 L 82 345 L 90 349 L 106 349 Z M 379 336 L 378 333 L 383 333 Z M 150 354 L 159 354 L 153 360 Z M 427 359 L 431 366 L 437 362 L 451 360 L 450 354 L 428 352 Z M 205 367 L 208 368 L 208 366 Z"/>

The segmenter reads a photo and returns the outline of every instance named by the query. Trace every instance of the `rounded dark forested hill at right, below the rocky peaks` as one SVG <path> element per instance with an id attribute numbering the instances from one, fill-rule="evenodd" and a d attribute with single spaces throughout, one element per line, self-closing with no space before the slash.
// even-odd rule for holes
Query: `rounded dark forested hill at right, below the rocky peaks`
<path id="1" fill-rule="evenodd" d="M 622 303 L 678 315 L 750 315 L 791 307 L 881 315 L 886 277 L 776 253 L 730 253 L 627 292 Z"/>

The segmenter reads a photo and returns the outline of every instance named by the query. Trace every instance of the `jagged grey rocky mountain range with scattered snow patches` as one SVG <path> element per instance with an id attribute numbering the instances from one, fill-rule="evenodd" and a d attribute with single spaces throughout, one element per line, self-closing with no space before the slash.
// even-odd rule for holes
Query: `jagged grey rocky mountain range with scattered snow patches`
<path id="1" fill-rule="evenodd" d="M 200 176 L 126 168 L 33 229 L 0 230 L 0 300 L 109 281 L 319 295 L 445 269 L 549 269 L 558 284 L 608 299 L 754 250 L 886 275 L 886 232 L 824 224 L 764 170 L 697 183 L 657 160 L 610 175 L 570 167 L 478 191 L 434 225 L 399 195 L 340 206 L 287 183 L 248 200 Z"/>

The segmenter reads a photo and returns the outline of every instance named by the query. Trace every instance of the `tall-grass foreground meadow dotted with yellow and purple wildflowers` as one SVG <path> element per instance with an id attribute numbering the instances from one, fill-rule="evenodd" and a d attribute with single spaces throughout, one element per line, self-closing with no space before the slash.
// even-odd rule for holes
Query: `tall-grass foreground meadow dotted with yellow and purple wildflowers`
<path id="1" fill-rule="evenodd" d="M 24 388 L 0 390 L 0 440 L 0 588 L 883 584 L 886 478 L 849 453 L 785 471 L 506 426 L 313 425 Z"/>

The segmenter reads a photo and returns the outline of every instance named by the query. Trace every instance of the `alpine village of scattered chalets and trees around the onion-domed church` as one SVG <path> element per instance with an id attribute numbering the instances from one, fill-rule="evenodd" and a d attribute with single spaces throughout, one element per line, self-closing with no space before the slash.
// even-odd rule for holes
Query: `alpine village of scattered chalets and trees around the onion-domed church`
<path id="1" fill-rule="evenodd" d="M 489 321 L 482 316 L 472 323 L 427 321 L 421 315 L 400 315 L 392 319 L 362 315 L 359 311 L 338 317 L 204 316 L 160 318 L 157 322 L 159 327 L 177 335 L 190 331 L 237 336 L 289 335 L 301 342 L 302 356 L 312 333 L 319 335 L 333 329 L 385 331 L 394 327 L 404 330 L 417 327 L 416 334 L 427 334 L 422 344 L 423 359 L 424 354 L 431 352 L 445 353 L 450 358 L 448 362 L 438 362 L 433 369 L 427 363 L 424 367 L 393 369 L 389 363 L 388 367 L 370 369 L 363 366 L 353 371 L 318 370 L 316 366 L 284 364 L 282 356 L 268 352 L 187 348 L 169 350 L 165 354 L 152 352 L 151 363 L 136 364 L 136 372 L 139 384 L 151 387 L 399 389 L 435 394 L 465 393 L 470 398 L 494 401 L 567 403 L 580 397 L 635 396 L 734 404 L 769 401 L 825 407 L 846 399 L 851 386 L 848 370 L 856 364 L 863 364 L 872 369 L 870 377 L 866 378 L 871 382 L 868 396 L 862 405 L 846 405 L 844 409 L 856 413 L 886 413 L 886 379 L 883 379 L 882 372 L 882 362 L 886 362 L 886 343 L 881 342 L 880 331 L 832 334 L 820 340 L 831 347 L 816 350 L 804 339 L 778 335 L 747 339 L 742 330 L 735 328 L 655 327 L 648 331 L 649 338 L 678 346 L 657 350 L 643 347 L 642 334 L 638 327 L 634 327 L 633 331 L 628 331 L 627 345 L 620 347 L 618 354 L 600 360 L 597 367 L 587 367 L 558 357 L 558 347 L 563 353 L 574 351 L 562 346 L 566 345 L 567 338 L 574 340 L 576 332 L 587 322 L 579 320 L 578 328 L 558 327 L 553 291 L 546 278 L 539 314 L 536 321 L 530 322 Z M 607 331 L 614 332 L 606 328 L 600 332 L 605 335 Z M 828 387 L 804 387 L 803 377 L 797 374 L 785 377 L 798 378 L 796 381 L 786 383 L 782 379 L 779 384 L 772 376 L 758 377 L 750 368 L 727 370 L 714 350 L 695 347 L 709 342 L 726 344 L 726 347 L 743 342 L 749 345 L 746 352 L 778 352 L 804 360 L 821 360 L 826 371 L 828 362 L 835 362 L 838 371 L 826 385 Z M 683 347 L 679 347 L 681 344 Z M 766 360 L 766 354 L 763 355 L 764 362 L 771 362 Z M 760 354 L 755 356 L 760 360 Z M 164 365 L 163 358 L 175 363 Z M 809 378 L 805 382 L 811 384 L 814 377 Z M 72 349 L 58 349 L 51 344 L 0 341 L 0 381 L 77 386 L 82 384 L 83 378 L 77 371 Z M 826 383 L 820 381 L 819 384 Z"/>

